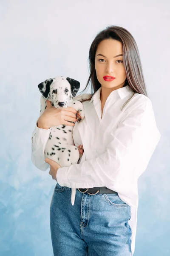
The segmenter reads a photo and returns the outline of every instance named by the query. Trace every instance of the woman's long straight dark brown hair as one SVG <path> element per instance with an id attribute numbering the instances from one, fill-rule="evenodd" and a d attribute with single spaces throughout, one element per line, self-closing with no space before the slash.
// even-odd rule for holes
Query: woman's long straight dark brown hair
<path id="1" fill-rule="evenodd" d="M 127 29 L 124 29 L 120 26 L 108 26 L 106 29 L 99 32 L 94 38 L 94 41 L 92 42 L 89 50 L 88 57 L 90 76 L 88 78 L 86 87 L 84 90 L 82 90 L 82 92 L 86 90 L 90 81 L 91 94 L 94 94 L 101 87 L 101 84 L 99 83 L 96 76 L 94 62 L 97 47 L 100 44 L 100 42 L 102 42 L 105 39 L 114 39 L 122 43 L 123 63 L 127 76 L 124 86 L 128 84 L 134 93 L 136 92 L 147 96 L 147 90 L 142 71 L 142 64 L 140 60 L 139 50 L 136 45 L 136 41 L 130 34 L 130 32 L 127 31 Z"/>

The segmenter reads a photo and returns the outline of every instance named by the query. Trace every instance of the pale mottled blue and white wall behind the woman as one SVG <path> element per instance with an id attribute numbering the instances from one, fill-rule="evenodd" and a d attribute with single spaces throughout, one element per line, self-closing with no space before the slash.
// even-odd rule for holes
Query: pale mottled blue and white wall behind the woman
<path id="1" fill-rule="evenodd" d="M 31 163 L 40 111 L 37 85 L 53 76 L 88 80 L 88 51 L 109 25 L 139 47 L 161 140 L 139 178 L 135 256 L 170 255 L 170 2 L 0 1 L 0 256 L 51 256 L 55 181 Z"/>

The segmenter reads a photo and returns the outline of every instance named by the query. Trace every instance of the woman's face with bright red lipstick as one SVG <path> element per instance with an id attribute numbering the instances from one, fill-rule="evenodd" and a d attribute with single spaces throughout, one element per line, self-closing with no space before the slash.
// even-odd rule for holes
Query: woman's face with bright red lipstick
<path id="1" fill-rule="evenodd" d="M 96 76 L 102 87 L 114 90 L 124 86 L 126 72 L 123 64 L 122 43 L 113 39 L 103 40 L 97 47 L 95 55 Z M 113 76 L 113 80 L 104 80 L 104 76 Z"/>

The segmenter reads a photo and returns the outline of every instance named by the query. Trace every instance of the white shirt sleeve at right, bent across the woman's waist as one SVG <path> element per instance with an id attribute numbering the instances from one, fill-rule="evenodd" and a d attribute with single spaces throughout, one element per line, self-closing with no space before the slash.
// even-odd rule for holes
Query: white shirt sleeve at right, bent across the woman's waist
<path id="1" fill-rule="evenodd" d="M 111 131 L 110 142 L 103 154 L 59 168 L 57 181 L 59 185 L 71 188 L 107 186 L 118 191 L 117 187 L 122 186 L 126 189 L 126 184 L 133 183 L 147 168 L 159 139 L 160 133 L 148 99 L 120 121 L 116 130 Z"/>

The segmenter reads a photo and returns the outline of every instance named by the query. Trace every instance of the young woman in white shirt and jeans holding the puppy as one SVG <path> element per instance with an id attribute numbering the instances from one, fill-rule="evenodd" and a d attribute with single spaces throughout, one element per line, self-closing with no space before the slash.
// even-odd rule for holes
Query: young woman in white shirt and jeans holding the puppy
<path id="1" fill-rule="evenodd" d="M 119 26 L 99 32 L 89 52 L 92 98 L 74 126 L 81 162 L 70 167 L 44 160 L 51 126 L 72 125 L 76 111 L 61 113 L 48 102 L 32 134 L 31 159 L 57 180 L 51 201 L 55 256 L 133 255 L 138 207 L 137 179 L 160 139 L 133 36 Z M 86 87 L 87 87 L 86 86 Z M 76 189 L 74 207 L 71 188 Z"/>

